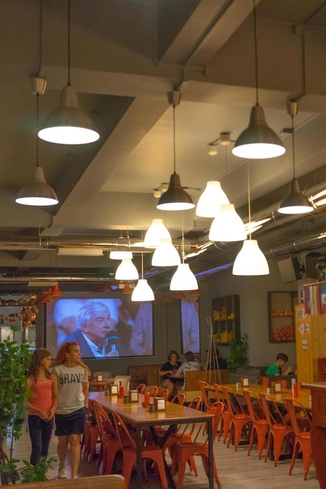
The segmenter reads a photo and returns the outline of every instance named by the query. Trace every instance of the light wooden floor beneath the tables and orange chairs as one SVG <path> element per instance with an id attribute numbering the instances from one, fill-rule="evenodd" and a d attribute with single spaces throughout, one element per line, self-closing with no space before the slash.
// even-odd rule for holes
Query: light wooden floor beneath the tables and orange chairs
<path id="1" fill-rule="evenodd" d="M 315 479 L 315 467 L 311 465 L 308 480 L 303 478 L 302 462 L 296 461 L 293 474 L 288 475 L 290 461 L 280 462 L 278 467 L 268 461 L 266 464 L 263 460 L 258 460 L 256 450 L 252 451 L 250 457 L 247 456 L 247 447 L 239 447 L 238 452 L 230 447 L 226 448 L 222 442 L 214 443 L 214 454 L 219 474 L 221 486 L 223 489 L 319 489 L 318 481 Z M 23 436 L 15 444 L 14 457 L 17 459 L 28 459 L 30 454 L 30 442 L 28 434 L 24 430 Z M 53 435 L 49 456 L 56 455 L 56 437 Z M 169 460 L 167 460 L 169 463 Z M 79 475 L 91 476 L 96 475 L 95 462 L 87 464 L 81 461 Z M 201 459 L 196 457 L 198 468 L 198 477 L 194 477 L 190 472 L 186 472 L 184 478 L 184 489 L 207 488 L 207 478 L 202 470 Z M 48 479 L 57 477 L 57 464 L 54 470 L 48 471 Z M 175 479 L 176 481 L 176 479 Z M 160 484 L 156 479 L 149 476 L 149 480 L 144 483 L 144 489 L 159 489 Z M 130 488 L 135 488 L 135 477 L 131 481 Z"/>

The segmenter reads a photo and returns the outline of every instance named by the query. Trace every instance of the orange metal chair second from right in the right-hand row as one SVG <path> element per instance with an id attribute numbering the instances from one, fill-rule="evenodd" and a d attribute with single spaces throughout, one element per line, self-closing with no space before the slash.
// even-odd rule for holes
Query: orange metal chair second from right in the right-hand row
<path id="1" fill-rule="evenodd" d="M 279 410 L 279 407 L 273 399 L 267 394 L 259 394 L 260 402 L 264 411 L 265 418 L 267 419 L 269 425 L 269 435 L 267 442 L 267 451 L 265 455 L 265 462 L 267 462 L 268 455 L 271 449 L 271 441 L 274 441 L 274 467 L 277 467 L 278 460 L 281 454 L 282 442 L 283 440 L 291 435 L 293 435 L 292 426 L 288 425 L 284 416 Z M 268 403 L 271 403 L 273 409 L 270 410 Z M 273 411 L 273 412 L 272 412 Z"/>

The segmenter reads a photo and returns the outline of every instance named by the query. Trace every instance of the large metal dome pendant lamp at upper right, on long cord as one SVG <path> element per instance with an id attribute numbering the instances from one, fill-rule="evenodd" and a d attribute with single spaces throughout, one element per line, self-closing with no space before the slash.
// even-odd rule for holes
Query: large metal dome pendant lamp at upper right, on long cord
<path id="1" fill-rule="evenodd" d="M 283 155 L 285 148 L 278 135 L 267 125 L 264 109 L 258 102 L 257 19 L 255 0 L 253 0 L 253 3 L 256 105 L 251 109 L 249 126 L 236 140 L 232 153 L 240 158 L 275 158 Z"/>

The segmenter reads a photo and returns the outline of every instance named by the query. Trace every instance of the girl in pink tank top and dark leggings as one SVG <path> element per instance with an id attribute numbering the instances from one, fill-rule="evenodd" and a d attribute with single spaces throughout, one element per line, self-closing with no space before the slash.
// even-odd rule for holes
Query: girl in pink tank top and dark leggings
<path id="1" fill-rule="evenodd" d="M 47 457 L 53 429 L 53 416 L 58 404 L 58 384 L 50 374 L 51 353 L 45 348 L 34 351 L 27 373 L 31 396 L 27 403 L 28 431 L 32 444 L 30 464 Z"/>

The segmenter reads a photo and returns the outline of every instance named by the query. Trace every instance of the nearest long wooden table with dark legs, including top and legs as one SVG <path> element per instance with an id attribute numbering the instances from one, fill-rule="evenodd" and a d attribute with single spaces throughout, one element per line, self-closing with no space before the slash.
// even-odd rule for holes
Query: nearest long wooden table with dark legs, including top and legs
<path id="1" fill-rule="evenodd" d="M 154 428 L 151 429 L 151 434 L 154 440 L 163 447 L 165 440 L 170 435 L 172 431 L 176 430 L 177 425 L 187 424 L 187 423 L 206 423 L 207 424 L 207 435 L 208 435 L 208 481 L 209 489 L 214 488 L 214 477 L 213 477 L 213 433 L 212 433 L 212 415 L 203 413 L 201 411 L 196 411 L 195 409 L 186 408 L 184 406 L 179 406 L 178 404 L 173 404 L 170 402 L 166 403 L 165 411 L 149 412 L 147 408 L 142 406 L 144 396 L 139 394 L 138 403 L 124 403 L 123 399 L 118 399 L 117 396 L 105 396 L 103 392 L 90 392 L 89 398 L 97 401 L 105 409 L 116 411 L 121 418 L 133 426 L 136 430 L 136 451 L 137 451 L 137 488 L 141 489 L 143 487 L 143 476 L 142 476 L 142 429 L 145 427 L 154 427 L 157 425 L 168 425 L 169 428 L 166 430 L 162 440 L 157 439 L 156 432 Z M 167 467 L 166 461 L 164 459 L 164 467 L 166 476 L 169 482 L 169 487 L 175 489 L 173 479 L 169 468 Z"/>

